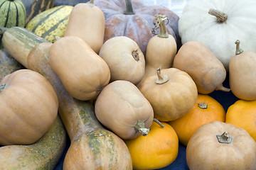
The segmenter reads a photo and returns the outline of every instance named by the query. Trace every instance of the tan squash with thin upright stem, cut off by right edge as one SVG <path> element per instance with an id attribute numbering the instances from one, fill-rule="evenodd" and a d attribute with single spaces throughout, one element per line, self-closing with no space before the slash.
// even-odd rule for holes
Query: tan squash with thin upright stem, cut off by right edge
<path id="1" fill-rule="evenodd" d="M 240 40 L 236 42 L 236 55 L 229 64 L 229 84 L 232 93 L 247 101 L 256 100 L 256 52 L 240 49 Z"/>

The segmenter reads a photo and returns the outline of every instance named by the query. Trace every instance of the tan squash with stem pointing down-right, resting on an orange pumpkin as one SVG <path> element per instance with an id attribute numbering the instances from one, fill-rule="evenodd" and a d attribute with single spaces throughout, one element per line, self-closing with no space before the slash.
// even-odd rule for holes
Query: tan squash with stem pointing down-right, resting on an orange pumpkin
<path id="1" fill-rule="evenodd" d="M 105 86 L 95 102 L 97 119 L 124 140 L 147 135 L 154 118 L 153 108 L 129 81 Z"/>

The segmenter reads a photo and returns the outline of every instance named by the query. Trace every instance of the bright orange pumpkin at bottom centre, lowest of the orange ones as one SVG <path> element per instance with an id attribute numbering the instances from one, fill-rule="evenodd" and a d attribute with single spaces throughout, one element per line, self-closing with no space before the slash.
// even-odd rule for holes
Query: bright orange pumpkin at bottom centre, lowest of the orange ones
<path id="1" fill-rule="evenodd" d="M 124 140 L 132 157 L 134 169 L 161 169 L 176 159 L 178 137 L 171 125 L 153 122 L 149 135 Z"/>

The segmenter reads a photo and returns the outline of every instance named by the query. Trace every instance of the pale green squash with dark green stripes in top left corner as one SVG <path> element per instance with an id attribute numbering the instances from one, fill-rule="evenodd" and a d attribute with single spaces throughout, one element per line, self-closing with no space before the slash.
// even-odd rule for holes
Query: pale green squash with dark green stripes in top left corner
<path id="1" fill-rule="evenodd" d="M 25 27 L 26 9 L 21 0 L 0 0 L 0 26 Z"/>

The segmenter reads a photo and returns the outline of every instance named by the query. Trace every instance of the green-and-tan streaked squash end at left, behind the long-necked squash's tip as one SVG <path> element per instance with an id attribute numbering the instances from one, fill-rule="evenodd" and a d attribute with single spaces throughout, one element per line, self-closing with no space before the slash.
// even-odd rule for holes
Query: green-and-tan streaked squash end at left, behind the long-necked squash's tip
<path id="1" fill-rule="evenodd" d="M 22 27 L 4 28 L 0 26 L 0 32 L 4 33 L 1 42 L 6 52 L 24 67 L 27 67 L 27 57 L 33 47 L 41 42 L 47 42 L 46 39 Z"/>

